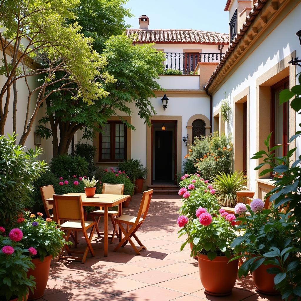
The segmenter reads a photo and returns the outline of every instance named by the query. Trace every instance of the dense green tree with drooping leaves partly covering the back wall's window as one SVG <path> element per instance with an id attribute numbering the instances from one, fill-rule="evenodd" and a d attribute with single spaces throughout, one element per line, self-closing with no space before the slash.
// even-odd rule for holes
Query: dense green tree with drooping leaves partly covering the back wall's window
<path id="1" fill-rule="evenodd" d="M 52 136 L 54 157 L 67 153 L 77 130 L 83 130 L 83 138 L 92 140 L 110 116 L 118 116 L 117 111 L 131 116 L 131 103 L 138 108 L 138 115 L 151 125 L 149 119 L 155 110 L 149 98 L 155 96 L 154 90 L 162 89 L 155 79 L 162 72 L 164 54 L 153 48 L 152 44 L 133 47 L 131 39 L 120 35 L 107 40 L 102 57 L 108 63 L 103 72 L 117 80 L 104 84 L 108 93 L 106 98 L 87 105 L 80 99 L 72 99 L 68 92 L 57 92 L 46 100 L 47 114 L 40 119 L 39 133 L 46 138 Z M 55 85 L 51 88 L 56 89 Z M 120 119 L 127 127 L 135 129 L 126 120 Z M 46 127 L 48 122 L 50 129 Z M 59 143 L 57 128 L 60 130 Z"/>

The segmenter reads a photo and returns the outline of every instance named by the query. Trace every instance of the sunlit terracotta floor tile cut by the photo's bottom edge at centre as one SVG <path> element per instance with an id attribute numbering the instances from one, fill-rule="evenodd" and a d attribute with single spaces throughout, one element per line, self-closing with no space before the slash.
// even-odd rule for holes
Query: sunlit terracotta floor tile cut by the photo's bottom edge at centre
<path id="1" fill-rule="evenodd" d="M 120 296 L 133 301 L 169 301 L 183 295 L 183 293 L 174 290 L 150 285 L 121 294 Z"/>

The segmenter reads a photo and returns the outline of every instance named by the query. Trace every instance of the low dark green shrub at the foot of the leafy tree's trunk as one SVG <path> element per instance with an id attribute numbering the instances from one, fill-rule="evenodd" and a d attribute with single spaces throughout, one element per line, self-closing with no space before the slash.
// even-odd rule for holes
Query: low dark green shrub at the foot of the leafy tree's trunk
<path id="1" fill-rule="evenodd" d="M 88 172 L 88 162 L 79 155 L 58 155 L 51 160 L 51 169 L 59 177 L 69 178 L 73 175 L 86 175 Z"/>

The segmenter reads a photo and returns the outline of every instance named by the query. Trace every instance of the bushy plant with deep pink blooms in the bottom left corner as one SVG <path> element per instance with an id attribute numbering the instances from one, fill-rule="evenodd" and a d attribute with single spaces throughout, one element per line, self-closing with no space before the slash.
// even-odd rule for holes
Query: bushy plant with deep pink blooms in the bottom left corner
<path id="1" fill-rule="evenodd" d="M 36 286 L 33 276 L 28 276 L 29 269 L 34 268 L 30 256 L 34 249 L 26 250 L 20 240 L 23 233 L 19 228 L 12 229 L 5 236 L 5 228 L 0 227 L 0 299 L 27 300 L 29 289 Z"/>

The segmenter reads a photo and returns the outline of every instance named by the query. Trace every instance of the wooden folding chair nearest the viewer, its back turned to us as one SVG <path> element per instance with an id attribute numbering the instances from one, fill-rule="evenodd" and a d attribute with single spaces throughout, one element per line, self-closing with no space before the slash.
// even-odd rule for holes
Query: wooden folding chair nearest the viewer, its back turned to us
<path id="1" fill-rule="evenodd" d="M 61 230 L 66 231 L 66 234 L 64 234 L 65 240 L 68 241 L 72 231 L 82 230 L 85 237 L 85 241 L 87 243 L 87 247 L 83 252 L 75 250 L 71 251 L 70 248 L 65 244 L 57 257 L 57 261 L 59 261 L 61 258 L 72 258 L 76 260 L 81 260 L 82 263 L 85 263 L 88 251 L 90 251 L 92 256 L 95 256 L 94 250 L 92 249 L 91 240 L 95 231 L 96 222 L 84 220 L 84 213 L 82 209 L 82 197 L 80 195 L 69 196 L 54 194 L 53 199 L 58 224 L 60 225 Z M 61 220 L 64 221 L 62 224 Z M 67 220 L 67 222 L 65 222 L 65 220 Z M 91 227 L 92 229 L 88 237 L 87 230 Z M 66 249 L 68 256 L 62 255 L 64 249 Z M 83 256 L 82 258 L 74 257 L 72 256 L 72 253 L 83 254 Z"/>

